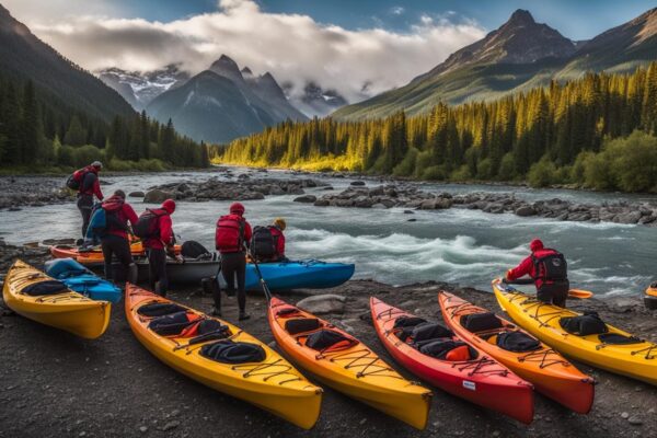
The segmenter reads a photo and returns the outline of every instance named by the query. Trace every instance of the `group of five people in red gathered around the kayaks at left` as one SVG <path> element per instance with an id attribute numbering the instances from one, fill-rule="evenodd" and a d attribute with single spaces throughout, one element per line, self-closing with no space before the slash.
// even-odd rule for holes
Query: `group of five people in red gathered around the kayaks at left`
<path id="1" fill-rule="evenodd" d="M 78 191 L 78 209 L 82 216 L 82 244 L 101 244 L 105 277 L 116 280 L 113 260 L 116 258 L 124 269 L 124 278 L 136 284 L 138 269 L 132 258 L 131 239 L 141 240 L 149 263 L 149 285 L 154 292 L 166 296 L 169 288 L 166 262 L 171 257 L 182 262 L 175 251 L 175 234 L 171 216 L 176 205 L 173 199 L 166 199 L 160 208 L 146 209 L 137 216 L 135 209 L 126 201 L 126 194 L 116 191 L 105 199 L 100 186 L 99 173 L 103 165 L 95 161 L 80 169 L 69 178 L 71 188 Z M 94 197 L 97 203 L 94 201 Z M 255 262 L 279 262 L 285 256 L 286 221 L 283 218 L 274 220 L 268 227 L 255 227 L 244 218 L 245 208 L 240 203 L 233 203 L 229 214 L 217 221 L 215 247 L 221 257 L 221 274 L 227 284 L 226 292 L 234 296 L 237 291 L 240 308 L 240 321 L 246 320 L 246 258 Z M 215 279 L 212 292 L 214 315 L 221 315 L 221 292 Z"/>

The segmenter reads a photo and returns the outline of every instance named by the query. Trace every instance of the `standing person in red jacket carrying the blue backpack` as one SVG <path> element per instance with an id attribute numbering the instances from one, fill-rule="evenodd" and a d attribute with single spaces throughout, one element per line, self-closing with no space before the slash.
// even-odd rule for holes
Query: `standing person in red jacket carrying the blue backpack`
<path id="1" fill-rule="evenodd" d="M 128 241 L 128 222 L 137 223 L 137 214 L 126 203 L 124 191 L 116 191 L 101 207 L 105 210 L 106 231 L 101 237 L 103 258 L 105 260 L 105 278 L 115 281 L 112 268 L 112 257 L 116 256 L 124 268 L 124 277 L 131 284 L 137 283 L 137 265 L 132 260 L 130 242 Z"/>

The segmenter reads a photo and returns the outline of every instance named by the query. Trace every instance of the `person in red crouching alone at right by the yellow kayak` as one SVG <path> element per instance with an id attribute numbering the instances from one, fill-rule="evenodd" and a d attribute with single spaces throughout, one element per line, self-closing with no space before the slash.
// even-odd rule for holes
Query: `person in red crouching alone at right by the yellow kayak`
<path id="1" fill-rule="evenodd" d="M 570 289 L 566 258 L 558 251 L 544 247 L 540 239 L 532 240 L 529 249 L 531 255 L 509 269 L 505 280 L 511 283 L 529 275 L 534 281 L 540 301 L 565 308 Z"/>

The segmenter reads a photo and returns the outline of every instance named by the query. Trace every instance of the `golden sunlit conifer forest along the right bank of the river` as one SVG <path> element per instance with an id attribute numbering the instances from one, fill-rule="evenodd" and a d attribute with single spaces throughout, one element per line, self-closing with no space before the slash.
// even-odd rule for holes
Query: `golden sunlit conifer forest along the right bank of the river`
<path id="1" fill-rule="evenodd" d="M 603 145 L 634 130 L 648 137 L 637 135 L 629 146 L 616 142 L 616 153 L 625 147 L 644 152 L 652 151 L 645 145 L 657 148 L 652 137 L 657 135 L 657 62 L 632 74 L 588 73 L 492 102 L 439 104 L 429 114 L 410 118 L 397 113 L 353 123 L 287 122 L 216 150 L 215 159 L 424 180 L 529 178 L 533 185 L 575 182 L 653 191 L 655 176 L 637 186 L 622 184 L 627 178 L 615 175 L 615 169 L 598 176 L 607 182 L 587 171 L 603 157 L 612 159 L 609 151 L 602 154 Z M 643 159 L 650 165 L 654 157 Z M 652 165 L 657 173 L 657 162 Z"/>

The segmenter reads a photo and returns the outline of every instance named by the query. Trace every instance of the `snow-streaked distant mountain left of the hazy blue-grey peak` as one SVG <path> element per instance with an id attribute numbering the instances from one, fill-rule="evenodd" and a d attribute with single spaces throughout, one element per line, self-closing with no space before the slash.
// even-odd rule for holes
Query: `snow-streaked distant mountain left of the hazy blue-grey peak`
<path id="1" fill-rule="evenodd" d="M 96 73 L 99 79 L 116 90 L 137 111 L 146 108 L 153 99 L 189 79 L 189 73 L 175 64 L 146 72 L 125 71 L 114 67 Z"/>

